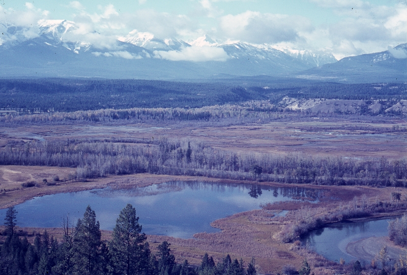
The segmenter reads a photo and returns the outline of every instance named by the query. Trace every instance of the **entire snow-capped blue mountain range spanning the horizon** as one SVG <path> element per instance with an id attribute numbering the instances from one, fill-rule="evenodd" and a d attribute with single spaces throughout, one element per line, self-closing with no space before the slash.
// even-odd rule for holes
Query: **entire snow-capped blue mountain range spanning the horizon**
<path id="1" fill-rule="evenodd" d="M 101 77 L 199 79 L 281 76 L 334 82 L 407 80 L 407 44 L 381 53 L 337 62 L 326 52 L 293 50 L 269 44 L 215 41 L 207 36 L 189 43 L 158 39 L 133 30 L 103 45 L 78 39 L 74 22 L 40 20 L 38 33 L 0 24 L 0 77 Z M 95 37 L 97 34 L 95 34 Z"/>

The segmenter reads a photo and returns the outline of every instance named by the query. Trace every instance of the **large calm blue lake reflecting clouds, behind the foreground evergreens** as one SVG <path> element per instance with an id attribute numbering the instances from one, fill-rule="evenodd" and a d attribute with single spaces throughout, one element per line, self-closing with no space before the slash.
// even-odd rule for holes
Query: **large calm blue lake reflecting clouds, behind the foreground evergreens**
<path id="1" fill-rule="evenodd" d="M 16 205 L 21 227 L 61 227 L 64 216 L 82 218 L 91 205 L 100 228 L 113 229 L 120 211 L 131 203 L 146 234 L 190 238 L 197 232 L 217 232 L 210 223 L 238 212 L 259 209 L 260 204 L 317 198 L 303 188 L 271 188 L 261 185 L 166 182 L 145 188 L 111 188 L 37 197 Z M 0 210 L 3 221 L 7 209 Z"/>

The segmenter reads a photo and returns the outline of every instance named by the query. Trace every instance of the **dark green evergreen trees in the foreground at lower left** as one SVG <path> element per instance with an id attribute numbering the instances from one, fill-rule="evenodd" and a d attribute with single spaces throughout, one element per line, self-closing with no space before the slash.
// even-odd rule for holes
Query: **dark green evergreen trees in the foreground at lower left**
<path id="1" fill-rule="evenodd" d="M 101 239 L 95 211 L 88 206 L 76 226 L 64 220 L 61 242 L 45 231 L 33 243 L 15 232 L 16 210 L 6 213 L 6 241 L 1 247 L 0 275 L 255 275 L 254 259 L 245 268 L 243 261 L 229 255 L 215 264 L 208 254 L 200 266 L 185 260 L 177 264 L 170 243 L 163 241 L 152 253 L 141 233 L 136 210 L 127 204 L 120 212 L 110 241 Z"/>

